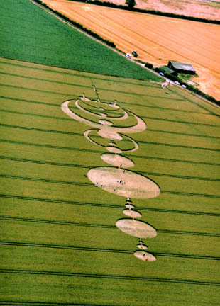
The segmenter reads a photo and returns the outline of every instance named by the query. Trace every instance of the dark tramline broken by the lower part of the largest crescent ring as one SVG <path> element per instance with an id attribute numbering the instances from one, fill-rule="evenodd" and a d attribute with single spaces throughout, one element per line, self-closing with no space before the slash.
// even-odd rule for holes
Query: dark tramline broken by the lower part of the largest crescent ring
<path id="1" fill-rule="evenodd" d="M 1 98 L 1 97 L 0 97 Z M 38 103 L 38 102 L 37 102 Z M 49 103 L 38 103 L 38 104 L 48 104 Z M 56 104 L 53 104 L 53 106 L 58 106 Z M 60 107 L 60 105 L 59 105 Z M 56 117 L 56 116 L 51 116 L 51 115 L 41 115 L 41 114 L 35 114 L 35 113 L 24 113 L 24 112 L 19 112 L 19 111 L 10 111 L 10 110 L 6 110 L 6 109 L 0 109 L 0 112 L 4 112 L 4 113 L 14 113 L 14 114 L 18 114 L 18 115 L 28 115 L 28 116 L 32 116 L 32 117 L 40 117 L 40 118 L 50 118 L 53 120 L 66 120 L 66 121 L 72 121 L 71 118 L 66 118 L 66 117 Z M 145 119 L 148 118 L 146 116 L 141 116 L 141 118 Z M 114 118 L 112 118 L 114 119 Z M 154 118 L 151 118 L 154 119 Z M 160 120 L 160 118 L 158 118 L 158 120 Z M 213 125 L 212 125 L 213 126 Z M 166 130 L 155 130 L 155 129 L 150 129 L 148 128 L 147 131 L 149 132 L 163 132 L 165 134 L 172 134 L 172 135 L 183 135 L 183 136 L 192 136 L 192 137 L 204 137 L 204 138 L 210 138 L 210 139 L 217 139 L 219 140 L 220 137 L 219 136 L 210 136 L 210 135 L 199 135 L 199 134 L 189 134 L 189 133 L 185 133 L 185 132 L 173 132 L 173 131 L 166 131 Z"/>

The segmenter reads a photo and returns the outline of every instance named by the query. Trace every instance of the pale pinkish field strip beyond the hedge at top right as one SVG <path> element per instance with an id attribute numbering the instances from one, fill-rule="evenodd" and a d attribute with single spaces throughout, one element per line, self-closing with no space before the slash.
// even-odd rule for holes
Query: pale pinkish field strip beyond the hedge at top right
<path id="1" fill-rule="evenodd" d="M 125 0 L 102 0 L 114 4 L 125 5 Z M 212 20 L 220 19 L 220 2 L 209 0 L 136 0 L 136 8 L 176 13 Z"/>

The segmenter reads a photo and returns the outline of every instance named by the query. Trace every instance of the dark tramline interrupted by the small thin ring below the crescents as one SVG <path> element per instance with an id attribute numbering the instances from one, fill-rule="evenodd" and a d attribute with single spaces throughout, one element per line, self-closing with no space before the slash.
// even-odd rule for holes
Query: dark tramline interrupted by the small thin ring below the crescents
<path id="1" fill-rule="evenodd" d="M 21 129 L 21 130 L 34 130 L 38 132 L 53 132 L 57 134 L 64 134 L 64 135 L 79 135 L 82 136 L 82 134 L 76 133 L 76 132 L 67 132 L 67 131 L 58 131 L 58 130 L 48 130 L 48 129 L 40 129 L 40 128 L 30 128 L 30 127 L 24 127 L 20 125 L 9 125 L 9 124 L 4 124 L 0 123 L 0 126 L 6 127 L 6 128 L 16 128 L 16 129 Z M 165 147 L 181 147 L 185 149 L 201 149 L 201 150 L 206 150 L 206 151 L 214 151 L 214 152 L 220 152 L 220 149 L 215 149 L 215 148 L 206 148 L 206 147 L 193 147 L 193 146 L 186 146 L 186 145 L 173 145 L 173 144 L 167 144 L 164 142 L 146 142 L 143 140 L 138 140 L 139 143 L 143 143 L 145 145 L 162 145 Z M 92 150 L 91 150 L 92 152 Z M 98 151 L 99 152 L 99 151 Z"/>

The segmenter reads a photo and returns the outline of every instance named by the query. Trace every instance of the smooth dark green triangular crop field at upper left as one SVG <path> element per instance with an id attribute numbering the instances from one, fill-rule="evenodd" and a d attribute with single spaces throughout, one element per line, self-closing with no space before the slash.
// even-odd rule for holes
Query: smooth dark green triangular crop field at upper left
<path id="1" fill-rule="evenodd" d="M 155 74 L 70 28 L 28 0 L 1 4 L 0 56 L 98 74 L 153 79 Z"/>

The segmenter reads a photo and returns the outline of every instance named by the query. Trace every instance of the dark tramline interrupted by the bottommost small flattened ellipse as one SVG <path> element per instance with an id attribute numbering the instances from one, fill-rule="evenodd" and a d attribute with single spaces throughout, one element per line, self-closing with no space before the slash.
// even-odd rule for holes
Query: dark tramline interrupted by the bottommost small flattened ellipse
<path id="1" fill-rule="evenodd" d="M 57 244 L 35 244 L 33 242 L 4 242 L 0 241 L 2 246 L 28 246 L 36 248 L 48 248 L 48 249 L 72 249 L 76 251 L 95 251 L 103 253 L 116 253 L 116 254 L 133 254 L 133 250 L 126 249 L 103 249 L 103 248 L 94 248 L 89 246 L 71 246 L 71 245 L 57 245 Z M 219 261 L 220 257 L 217 256 L 204 256 L 204 255 L 195 255 L 195 254 L 175 254 L 175 253 L 161 253 L 153 252 L 156 256 L 161 257 L 178 257 L 185 259 L 202 259 L 202 260 L 214 260 Z"/>

